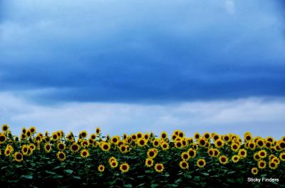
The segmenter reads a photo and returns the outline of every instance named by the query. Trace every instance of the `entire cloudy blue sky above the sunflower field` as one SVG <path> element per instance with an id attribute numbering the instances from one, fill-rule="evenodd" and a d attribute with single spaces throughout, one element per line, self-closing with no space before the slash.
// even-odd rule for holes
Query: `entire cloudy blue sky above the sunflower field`
<path id="1" fill-rule="evenodd" d="M 285 135 L 282 1 L 1 0 L 13 133 Z"/>

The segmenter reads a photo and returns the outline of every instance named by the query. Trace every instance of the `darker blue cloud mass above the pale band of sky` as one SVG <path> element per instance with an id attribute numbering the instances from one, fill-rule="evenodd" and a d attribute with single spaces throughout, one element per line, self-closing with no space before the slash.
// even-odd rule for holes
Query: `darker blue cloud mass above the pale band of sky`
<path id="1" fill-rule="evenodd" d="M 285 94 L 278 1 L 3 1 L 0 90 L 34 101 Z"/>

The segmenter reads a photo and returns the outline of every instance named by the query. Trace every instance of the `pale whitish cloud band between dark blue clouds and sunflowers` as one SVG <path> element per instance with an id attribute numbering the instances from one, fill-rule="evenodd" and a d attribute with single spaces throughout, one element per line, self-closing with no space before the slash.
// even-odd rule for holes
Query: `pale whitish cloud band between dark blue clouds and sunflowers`
<path id="1" fill-rule="evenodd" d="M 38 131 L 95 131 L 112 135 L 180 129 L 192 136 L 196 131 L 237 133 L 280 138 L 285 132 L 284 99 L 248 98 L 229 101 L 196 101 L 172 104 L 123 104 L 68 102 L 41 105 L 11 93 L 0 94 L 0 121 L 19 134 L 22 126 Z"/>

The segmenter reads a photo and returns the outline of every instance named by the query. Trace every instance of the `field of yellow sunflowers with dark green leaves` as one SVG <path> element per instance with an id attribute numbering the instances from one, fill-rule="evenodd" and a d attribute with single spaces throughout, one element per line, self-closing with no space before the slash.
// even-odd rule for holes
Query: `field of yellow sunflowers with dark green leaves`
<path id="1" fill-rule="evenodd" d="M 1 129 L 1 187 L 285 187 L 285 136 Z"/>

